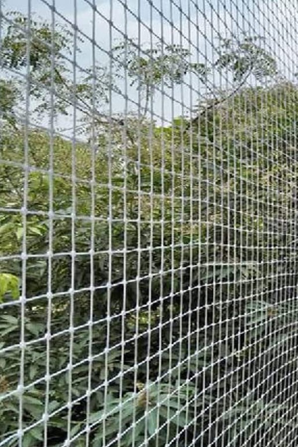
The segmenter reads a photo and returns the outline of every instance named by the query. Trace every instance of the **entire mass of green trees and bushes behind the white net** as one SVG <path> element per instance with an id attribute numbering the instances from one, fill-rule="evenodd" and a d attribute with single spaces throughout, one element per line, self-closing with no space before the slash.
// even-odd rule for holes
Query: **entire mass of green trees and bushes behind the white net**
<path id="1" fill-rule="evenodd" d="M 69 33 L 12 17 L 4 66 L 28 65 L 30 28 L 39 110 L 49 111 L 39 81 L 54 82 L 60 113 L 75 96 L 85 130 L 93 118 L 97 149 L 24 133 L 15 113 L 22 89 L 14 95 L 1 80 L 0 442 L 19 427 L 22 334 L 24 446 L 44 444 L 45 406 L 49 446 L 61 446 L 69 429 L 84 446 L 86 424 L 94 447 L 271 443 L 276 415 L 297 423 L 289 399 L 298 388 L 288 386 L 296 353 L 281 355 L 298 342 L 297 86 L 239 89 L 246 75 L 261 79 L 276 66 L 256 40 L 227 41 L 217 67 L 237 88 L 191 126 L 177 118 L 158 127 L 146 113 L 110 119 L 98 112 L 111 85 L 105 68 L 96 79 L 86 70 L 74 86 L 63 58 Z M 114 56 L 147 100 L 190 72 L 207 82 L 209 68 L 179 46 L 139 55 L 120 45 Z"/>

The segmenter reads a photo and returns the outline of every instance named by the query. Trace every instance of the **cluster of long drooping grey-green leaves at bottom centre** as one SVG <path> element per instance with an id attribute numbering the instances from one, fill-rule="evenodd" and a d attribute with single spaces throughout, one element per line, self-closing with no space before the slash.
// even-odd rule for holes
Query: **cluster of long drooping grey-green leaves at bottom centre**
<path id="1" fill-rule="evenodd" d="M 90 415 L 90 424 L 98 427 L 94 446 L 102 446 L 104 436 L 105 441 L 116 445 L 119 427 L 124 434 L 122 446 L 131 446 L 133 441 L 138 444 L 147 441 L 149 446 L 154 446 L 156 438 L 159 444 L 165 445 L 174 441 L 177 427 L 184 428 L 193 418 L 192 412 L 187 410 L 188 399 L 195 395 L 192 384 L 184 383 L 182 387 L 178 382 L 174 386 L 166 383 L 138 385 L 137 393 L 128 392 L 122 399 L 108 394 L 105 404 L 102 402 L 103 409 Z"/>

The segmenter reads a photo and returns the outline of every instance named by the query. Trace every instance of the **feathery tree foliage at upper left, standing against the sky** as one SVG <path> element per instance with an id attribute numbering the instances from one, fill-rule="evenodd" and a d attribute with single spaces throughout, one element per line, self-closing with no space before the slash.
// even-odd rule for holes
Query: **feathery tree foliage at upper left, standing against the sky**
<path id="1" fill-rule="evenodd" d="M 59 23 L 52 26 L 42 20 L 28 19 L 25 15 L 13 11 L 7 13 L 8 25 L 3 26 L 1 38 L 1 64 L 12 80 L 0 80 L 0 110 L 10 112 L 14 117 L 20 104 L 25 108 L 23 76 L 30 73 L 30 97 L 34 98 L 31 120 L 47 113 L 51 102 L 51 91 L 55 96 L 52 113 L 69 113 L 76 97 L 76 108 L 84 119 L 96 113 L 99 105 L 107 101 L 110 77 L 103 67 L 77 70 L 75 86 L 71 80 L 72 67 L 68 60 L 71 53 L 73 30 Z M 77 42 L 81 39 L 78 36 Z M 76 50 L 79 52 L 79 48 Z M 29 55 L 29 56 L 28 56 Z M 29 57 L 29 60 L 27 60 Z M 53 63 L 55 61 L 55 64 Z M 13 70 L 11 72 L 11 70 Z M 20 76 L 21 75 L 21 76 Z M 15 92 L 18 92 L 16 95 Z M 23 97 L 22 97 L 23 96 Z M 21 100 L 22 99 L 22 100 Z M 18 101 L 17 101 L 18 100 Z"/>

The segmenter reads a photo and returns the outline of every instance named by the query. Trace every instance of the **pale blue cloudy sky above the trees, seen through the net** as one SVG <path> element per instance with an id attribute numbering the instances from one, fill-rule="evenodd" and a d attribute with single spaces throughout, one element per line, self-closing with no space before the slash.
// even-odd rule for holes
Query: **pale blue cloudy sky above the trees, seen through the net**
<path id="1" fill-rule="evenodd" d="M 1 0 L 0 0 L 1 1 Z M 297 0 L 6 0 L 5 9 L 25 14 L 28 7 L 49 21 L 55 5 L 55 20 L 64 24 L 76 23 L 81 67 L 92 64 L 92 47 L 98 64 L 108 63 L 107 51 L 111 42 L 125 36 L 140 44 L 164 42 L 188 48 L 193 61 L 212 62 L 217 55 L 220 37 L 241 38 L 263 36 L 265 48 L 276 58 L 278 67 L 287 78 L 298 72 L 298 8 Z M 95 7 L 94 7 L 95 6 Z M 94 26 L 93 26 L 94 25 Z M 92 42 L 92 31 L 95 39 Z M 200 84 L 192 78 L 192 87 L 177 86 L 169 97 L 155 94 L 154 113 L 170 120 L 189 114 L 199 100 Z M 197 92 L 197 93 L 195 93 Z M 128 96 L 138 101 L 133 88 Z M 171 101 L 174 96 L 175 103 Z M 172 107 L 173 106 L 173 107 Z M 119 95 L 112 99 L 112 110 L 123 111 L 124 100 Z M 133 107 L 133 106 L 132 106 Z M 60 127 L 68 128 L 66 118 Z"/>

